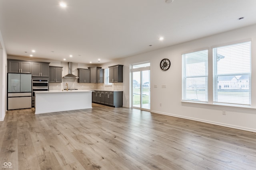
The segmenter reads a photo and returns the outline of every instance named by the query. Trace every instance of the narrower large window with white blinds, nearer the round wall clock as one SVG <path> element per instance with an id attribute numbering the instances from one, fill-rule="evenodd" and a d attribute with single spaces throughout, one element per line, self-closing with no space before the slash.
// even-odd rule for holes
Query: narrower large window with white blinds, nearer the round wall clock
<path id="1" fill-rule="evenodd" d="M 208 102 L 208 50 L 182 55 L 182 100 Z"/>

